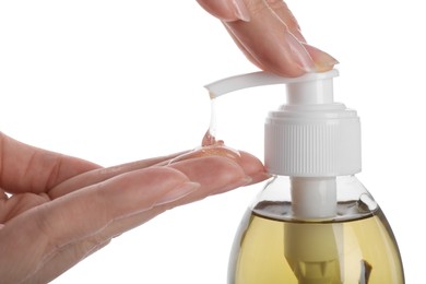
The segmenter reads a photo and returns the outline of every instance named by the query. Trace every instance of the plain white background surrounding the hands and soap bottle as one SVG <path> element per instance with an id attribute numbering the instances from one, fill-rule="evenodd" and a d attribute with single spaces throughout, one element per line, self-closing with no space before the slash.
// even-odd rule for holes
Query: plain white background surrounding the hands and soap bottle
<path id="1" fill-rule="evenodd" d="M 363 123 L 359 179 L 392 225 L 406 283 L 422 283 L 423 2 L 287 3 L 308 42 L 341 62 L 336 100 Z M 0 1 L 0 130 L 105 166 L 199 145 L 210 118 L 202 86 L 256 70 L 193 0 Z M 221 103 L 221 138 L 260 158 L 263 118 L 284 97 L 265 93 Z M 225 283 L 234 233 L 260 188 L 167 212 L 55 283 Z"/>

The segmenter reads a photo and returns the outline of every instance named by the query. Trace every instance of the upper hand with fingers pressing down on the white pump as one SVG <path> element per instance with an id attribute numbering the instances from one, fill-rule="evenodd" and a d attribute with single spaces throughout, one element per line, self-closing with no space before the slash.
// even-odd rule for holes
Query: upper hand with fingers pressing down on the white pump
<path id="1" fill-rule="evenodd" d="M 338 61 L 308 45 L 282 0 L 197 0 L 218 17 L 246 57 L 284 76 L 322 72 Z"/>

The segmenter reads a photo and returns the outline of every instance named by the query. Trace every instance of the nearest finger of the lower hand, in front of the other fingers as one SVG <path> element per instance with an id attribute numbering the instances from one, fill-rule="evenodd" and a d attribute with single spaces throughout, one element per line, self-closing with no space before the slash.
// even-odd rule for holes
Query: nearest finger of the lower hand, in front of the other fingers
<path id="1" fill-rule="evenodd" d="M 115 220 L 182 198 L 198 186 L 174 168 L 145 168 L 28 210 L 0 230 L 0 255 L 8 256 L 0 258 L 2 280 L 20 282 L 60 248 L 98 234 Z"/>

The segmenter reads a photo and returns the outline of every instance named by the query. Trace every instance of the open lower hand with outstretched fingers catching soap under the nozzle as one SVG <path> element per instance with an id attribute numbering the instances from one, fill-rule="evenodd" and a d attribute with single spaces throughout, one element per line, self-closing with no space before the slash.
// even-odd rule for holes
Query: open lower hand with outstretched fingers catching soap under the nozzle
<path id="1" fill-rule="evenodd" d="M 1 282 L 48 282 L 166 210 L 268 177 L 244 152 L 175 156 L 102 168 L 0 133 Z"/>

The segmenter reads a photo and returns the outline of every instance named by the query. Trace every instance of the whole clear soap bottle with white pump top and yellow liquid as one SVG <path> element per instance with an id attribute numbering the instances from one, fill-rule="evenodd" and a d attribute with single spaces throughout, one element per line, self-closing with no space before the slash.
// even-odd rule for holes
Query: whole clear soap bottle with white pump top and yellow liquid
<path id="1" fill-rule="evenodd" d="M 336 70 L 281 78 L 257 72 L 206 86 L 211 96 L 286 84 L 264 126 L 272 178 L 249 206 L 229 258 L 229 284 L 400 284 L 393 233 L 358 181 L 360 127 L 333 100 Z"/>

